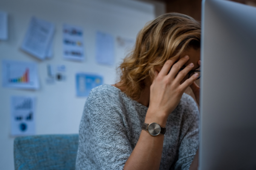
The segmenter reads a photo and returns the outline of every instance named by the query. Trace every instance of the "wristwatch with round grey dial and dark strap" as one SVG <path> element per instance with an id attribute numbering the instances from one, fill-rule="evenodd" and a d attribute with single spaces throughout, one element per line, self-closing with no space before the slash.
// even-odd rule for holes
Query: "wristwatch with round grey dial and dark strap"
<path id="1" fill-rule="evenodd" d="M 164 135 L 165 132 L 166 132 L 166 127 L 161 127 L 156 122 L 153 122 L 151 124 L 143 123 L 142 129 L 146 130 L 152 136 L 157 136 L 157 135 L 160 135 L 160 134 Z"/>

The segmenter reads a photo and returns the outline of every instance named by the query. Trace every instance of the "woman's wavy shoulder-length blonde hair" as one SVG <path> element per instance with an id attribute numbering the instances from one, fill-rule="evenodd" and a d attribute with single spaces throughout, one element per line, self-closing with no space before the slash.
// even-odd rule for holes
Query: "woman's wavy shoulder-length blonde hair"
<path id="1" fill-rule="evenodd" d="M 163 66 L 171 57 L 178 57 L 187 48 L 200 48 L 201 25 L 184 14 L 169 13 L 147 23 L 138 33 L 133 50 L 119 66 L 117 87 L 139 99 L 146 77 L 154 78 L 154 67 Z"/>

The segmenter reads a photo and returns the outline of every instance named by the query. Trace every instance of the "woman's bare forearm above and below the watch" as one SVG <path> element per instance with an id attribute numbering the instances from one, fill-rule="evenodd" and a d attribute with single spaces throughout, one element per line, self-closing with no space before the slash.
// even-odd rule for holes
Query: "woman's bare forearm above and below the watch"
<path id="1" fill-rule="evenodd" d="M 166 116 L 157 116 L 149 110 L 145 117 L 145 123 L 156 122 L 161 127 L 166 126 L 166 121 Z M 151 136 L 147 131 L 142 130 L 131 156 L 125 163 L 124 170 L 158 170 L 163 151 L 163 139 L 162 134 Z"/>

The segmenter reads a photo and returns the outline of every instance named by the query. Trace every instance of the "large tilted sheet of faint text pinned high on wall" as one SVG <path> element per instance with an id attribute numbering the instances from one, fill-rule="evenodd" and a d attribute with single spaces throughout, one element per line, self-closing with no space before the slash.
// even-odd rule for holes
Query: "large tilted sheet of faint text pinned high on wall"
<path id="1" fill-rule="evenodd" d="M 21 49 L 38 59 L 45 59 L 49 53 L 53 34 L 54 25 L 52 23 L 32 17 Z"/>

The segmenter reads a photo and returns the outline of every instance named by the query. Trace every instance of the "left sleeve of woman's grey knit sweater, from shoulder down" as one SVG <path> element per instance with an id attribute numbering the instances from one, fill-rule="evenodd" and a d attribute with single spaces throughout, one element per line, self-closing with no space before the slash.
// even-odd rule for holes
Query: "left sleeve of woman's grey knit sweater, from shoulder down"
<path id="1" fill-rule="evenodd" d="M 122 108 L 108 94 L 92 90 L 85 103 L 77 170 L 122 170 L 132 152 Z"/>

